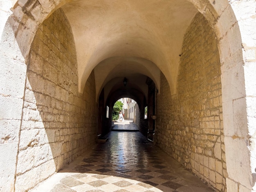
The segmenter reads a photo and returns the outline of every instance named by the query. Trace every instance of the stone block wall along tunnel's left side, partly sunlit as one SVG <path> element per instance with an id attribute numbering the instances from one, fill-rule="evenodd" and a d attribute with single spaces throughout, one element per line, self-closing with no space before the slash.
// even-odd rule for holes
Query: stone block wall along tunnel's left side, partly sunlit
<path id="1" fill-rule="evenodd" d="M 40 25 L 31 45 L 16 170 L 16 191 L 26 191 L 94 144 L 97 105 L 94 74 L 78 93 L 72 30 L 58 9 Z"/>

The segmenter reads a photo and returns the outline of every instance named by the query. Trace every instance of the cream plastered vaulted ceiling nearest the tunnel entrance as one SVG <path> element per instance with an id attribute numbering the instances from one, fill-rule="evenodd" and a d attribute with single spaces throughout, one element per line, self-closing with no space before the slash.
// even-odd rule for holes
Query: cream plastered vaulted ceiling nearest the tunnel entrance
<path id="1" fill-rule="evenodd" d="M 76 44 L 79 92 L 94 70 L 96 92 L 112 78 L 143 74 L 175 94 L 182 41 L 198 12 L 187 0 L 78 0 L 61 7 Z M 121 70 L 120 70 L 121 69 Z"/>

